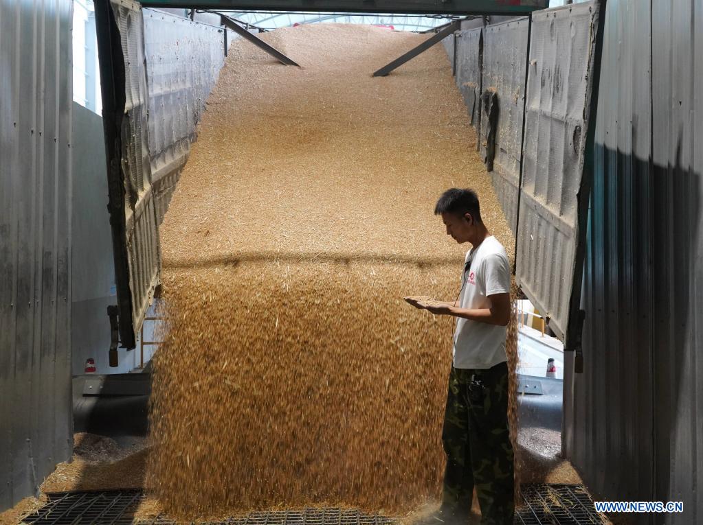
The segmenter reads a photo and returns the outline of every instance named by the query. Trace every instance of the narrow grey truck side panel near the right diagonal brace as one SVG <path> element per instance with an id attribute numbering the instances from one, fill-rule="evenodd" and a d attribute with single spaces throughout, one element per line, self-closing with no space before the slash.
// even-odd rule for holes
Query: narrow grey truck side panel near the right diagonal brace
<path id="1" fill-rule="evenodd" d="M 469 121 L 481 135 L 483 29 L 456 33 L 456 85 L 469 112 Z"/>

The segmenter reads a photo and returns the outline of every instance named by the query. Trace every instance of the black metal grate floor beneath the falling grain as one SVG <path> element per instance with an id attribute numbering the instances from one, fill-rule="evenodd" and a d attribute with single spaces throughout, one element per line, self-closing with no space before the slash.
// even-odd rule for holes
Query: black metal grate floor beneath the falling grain
<path id="1" fill-rule="evenodd" d="M 518 525 L 601 525 L 593 501 L 580 485 L 528 485 L 515 514 Z M 32 525 L 134 525 L 134 511 L 144 498 L 142 491 L 67 492 L 49 494 L 49 502 L 23 523 Z M 307 508 L 275 512 L 251 512 L 207 525 L 394 525 L 392 518 L 358 510 Z M 137 525 L 173 525 L 165 517 Z M 205 525 L 205 524 L 204 524 Z"/>

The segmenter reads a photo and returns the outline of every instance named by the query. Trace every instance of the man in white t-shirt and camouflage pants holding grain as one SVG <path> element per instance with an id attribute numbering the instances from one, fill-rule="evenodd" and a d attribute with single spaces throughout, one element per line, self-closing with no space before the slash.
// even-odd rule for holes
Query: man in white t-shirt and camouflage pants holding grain
<path id="1" fill-rule="evenodd" d="M 426 521 L 466 524 L 475 487 L 481 523 L 508 525 L 515 510 L 505 354 L 510 263 L 482 222 L 472 190 L 447 190 L 434 214 L 441 215 L 448 235 L 472 248 L 455 302 L 406 298 L 433 314 L 458 318 L 442 431 L 447 457 L 442 504 Z"/>

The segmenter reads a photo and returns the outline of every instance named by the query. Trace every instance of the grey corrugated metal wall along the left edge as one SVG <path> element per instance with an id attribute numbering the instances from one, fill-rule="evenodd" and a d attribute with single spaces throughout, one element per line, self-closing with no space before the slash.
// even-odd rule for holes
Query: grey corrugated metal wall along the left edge
<path id="1" fill-rule="evenodd" d="M 72 450 L 71 20 L 0 3 L 0 510 Z"/>

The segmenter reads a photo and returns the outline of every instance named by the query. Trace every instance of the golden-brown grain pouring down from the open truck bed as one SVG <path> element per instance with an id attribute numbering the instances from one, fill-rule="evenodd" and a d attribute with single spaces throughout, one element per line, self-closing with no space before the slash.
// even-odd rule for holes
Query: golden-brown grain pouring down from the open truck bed
<path id="1" fill-rule="evenodd" d="M 512 239 L 440 46 L 309 25 L 236 41 L 162 225 L 169 316 L 148 483 L 167 512 L 314 503 L 402 512 L 439 494 L 463 255 L 432 215 L 474 187 Z"/>

